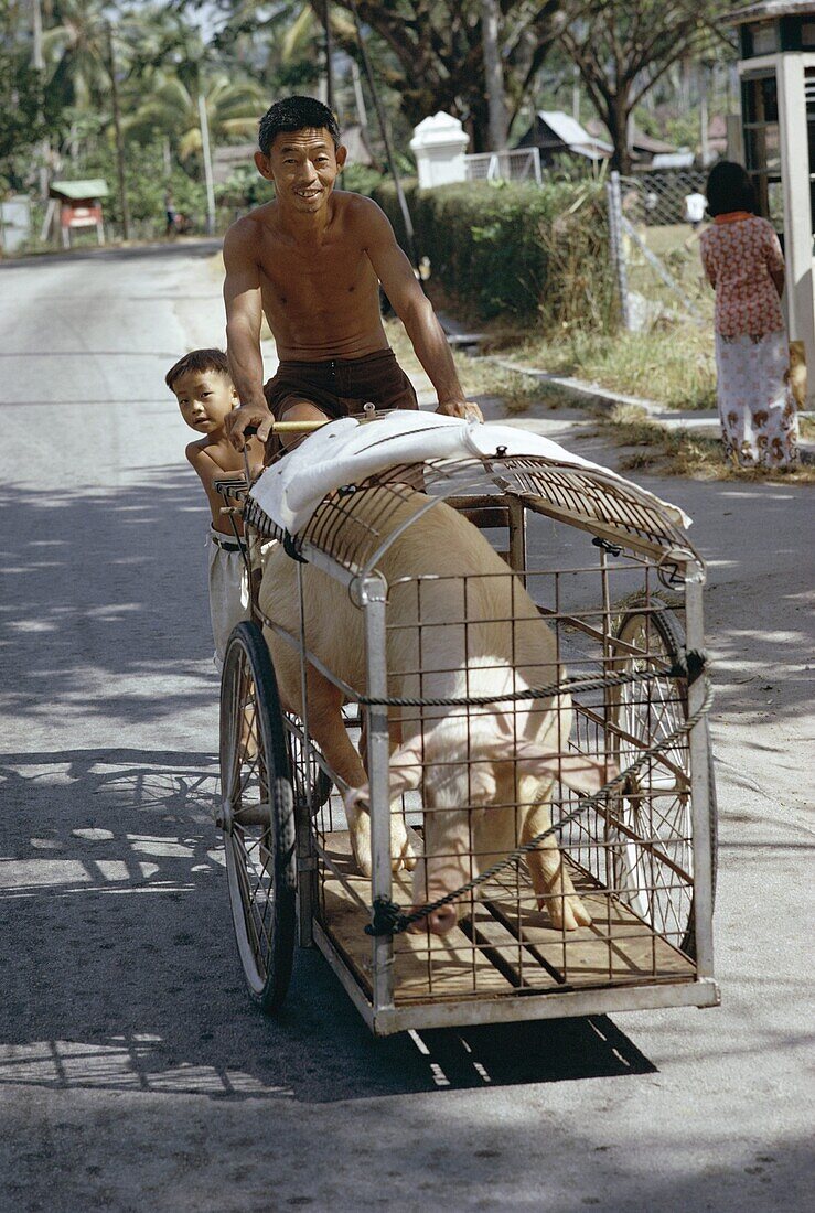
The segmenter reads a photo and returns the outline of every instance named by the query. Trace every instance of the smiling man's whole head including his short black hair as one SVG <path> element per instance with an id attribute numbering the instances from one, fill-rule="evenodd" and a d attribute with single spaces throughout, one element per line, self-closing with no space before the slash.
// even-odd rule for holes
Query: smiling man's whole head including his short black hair
<path id="1" fill-rule="evenodd" d="M 337 120 L 314 97 L 286 97 L 261 119 L 257 171 L 274 182 L 278 200 L 296 212 L 319 211 L 346 163 Z"/>

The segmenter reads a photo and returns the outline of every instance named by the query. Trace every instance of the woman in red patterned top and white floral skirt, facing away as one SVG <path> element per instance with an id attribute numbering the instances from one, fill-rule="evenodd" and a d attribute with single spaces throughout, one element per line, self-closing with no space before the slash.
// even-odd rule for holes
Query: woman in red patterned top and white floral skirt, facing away
<path id="1" fill-rule="evenodd" d="M 713 226 L 701 251 L 716 291 L 719 418 L 725 454 L 742 467 L 788 467 L 798 457 L 798 416 L 781 314 L 783 255 L 756 209 L 741 165 L 717 164 L 707 180 Z"/>

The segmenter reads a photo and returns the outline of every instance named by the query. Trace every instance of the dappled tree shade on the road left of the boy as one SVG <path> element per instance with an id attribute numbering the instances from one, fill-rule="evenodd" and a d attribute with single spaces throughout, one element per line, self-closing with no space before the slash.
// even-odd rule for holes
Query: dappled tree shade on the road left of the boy
<path id="1" fill-rule="evenodd" d="M 0 643 L 11 718 L 76 712 L 110 728 L 217 697 L 207 516 L 184 467 L 137 484 L 0 494 Z"/>

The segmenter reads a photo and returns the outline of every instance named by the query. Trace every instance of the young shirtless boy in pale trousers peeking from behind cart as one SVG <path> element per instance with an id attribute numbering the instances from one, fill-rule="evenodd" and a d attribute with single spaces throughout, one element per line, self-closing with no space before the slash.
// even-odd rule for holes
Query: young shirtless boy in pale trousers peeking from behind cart
<path id="1" fill-rule="evenodd" d="M 221 514 L 227 505 L 215 490 L 215 482 L 229 474 L 244 472 L 244 460 L 229 443 L 224 421 L 239 404 L 238 393 L 229 376 L 227 355 L 220 349 L 194 349 L 171 366 L 165 382 L 178 400 L 181 415 L 196 433 L 203 434 L 187 448 L 187 459 L 193 465 L 204 485 L 210 502 L 210 619 L 215 639 L 215 664 L 223 667 L 227 640 L 233 627 L 249 619 L 249 588 L 241 542 L 228 518 Z M 263 462 L 263 445 L 257 438 L 247 444 L 249 462 L 260 469 Z M 243 524 L 238 531 L 243 535 Z"/>

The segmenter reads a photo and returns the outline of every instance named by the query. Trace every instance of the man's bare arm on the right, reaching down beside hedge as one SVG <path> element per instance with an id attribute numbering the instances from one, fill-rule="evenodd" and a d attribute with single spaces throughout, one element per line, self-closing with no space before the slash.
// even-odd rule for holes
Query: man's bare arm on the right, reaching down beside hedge
<path id="1" fill-rule="evenodd" d="M 480 417 L 478 405 L 467 403 L 448 338 L 408 257 L 397 244 L 391 223 L 376 203 L 365 201 L 363 205 L 365 211 L 360 215 L 360 223 L 364 224 L 365 251 L 435 388 L 439 398 L 437 412 L 463 417 L 473 411 Z"/>

